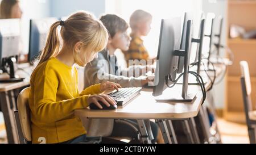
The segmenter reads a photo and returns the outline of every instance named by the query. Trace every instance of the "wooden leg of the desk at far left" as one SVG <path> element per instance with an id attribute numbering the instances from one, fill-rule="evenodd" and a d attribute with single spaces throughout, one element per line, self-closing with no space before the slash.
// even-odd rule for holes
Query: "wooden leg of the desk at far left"
<path id="1" fill-rule="evenodd" d="M 15 122 L 15 116 L 14 116 L 14 109 L 11 108 L 9 97 L 7 95 L 7 92 L 1 92 L 0 93 L 1 98 L 1 108 L 3 112 L 3 117 L 5 119 L 5 127 L 6 127 L 6 133 L 7 133 L 7 139 L 9 144 L 13 143 L 19 143 L 18 140 L 18 132 L 16 131 L 16 122 Z"/>

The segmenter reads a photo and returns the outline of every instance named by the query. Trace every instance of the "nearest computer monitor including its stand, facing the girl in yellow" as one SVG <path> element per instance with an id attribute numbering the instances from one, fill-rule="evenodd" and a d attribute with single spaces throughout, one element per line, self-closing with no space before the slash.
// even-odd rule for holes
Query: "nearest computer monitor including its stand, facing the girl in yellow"
<path id="1" fill-rule="evenodd" d="M 153 95 L 157 98 L 156 100 L 167 100 L 167 101 L 181 101 L 181 102 L 192 102 L 195 99 L 196 94 L 188 94 L 188 72 L 189 72 L 189 56 L 190 56 L 190 45 L 191 45 L 191 27 L 192 20 L 187 21 L 187 30 L 185 37 L 185 49 L 180 48 L 180 18 L 172 18 L 162 20 L 160 37 L 159 37 L 159 48 L 158 48 L 158 63 L 156 65 L 155 72 L 155 83 L 153 89 Z M 184 74 L 183 74 L 183 86 L 181 95 L 172 94 L 170 96 L 161 97 L 163 91 L 167 86 L 170 85 L 170 81 L 174 82 L 175 79 L 171 78 L 171 74 L 176 74 L 175 68 L 172 68 L 172 64 L 177 64 L 173 61 L 176 56 L 184 57 Z M 169 72 L 170 71 L 170 72 Z"/>

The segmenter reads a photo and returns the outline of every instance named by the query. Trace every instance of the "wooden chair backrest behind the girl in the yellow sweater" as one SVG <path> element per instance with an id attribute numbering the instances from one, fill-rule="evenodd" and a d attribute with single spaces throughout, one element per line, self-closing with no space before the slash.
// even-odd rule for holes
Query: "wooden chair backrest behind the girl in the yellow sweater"
<path id="1" fill-rule="evenodd" d="M 30 87 L 23 89 L 18 96 L 17 106 L 19 112 L 19 121 L 22 128 L 24 139 L 32 141 L 31 138 L 31 120 L 30 120 L 30 107 L 28 105 L 28 97 L 30 95 Z"/>

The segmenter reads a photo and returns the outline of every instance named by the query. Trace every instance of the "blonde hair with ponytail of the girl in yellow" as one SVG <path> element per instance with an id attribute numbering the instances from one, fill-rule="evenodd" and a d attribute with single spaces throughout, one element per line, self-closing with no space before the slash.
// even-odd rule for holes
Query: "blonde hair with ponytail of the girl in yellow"
<path id="1" fill-rule="evenodd" d="M 63 22 L 61 24 L 61 22 Z M 63 44 L 73 50 L 75 62 L 79 58 L 76 56 L 75 44 L 81 41 L 86 48 L 90 48 L 92 54 L 102 51 L 108 44 L 108 30 L 100 20 L 85 11 L 79 11 L 65 21 L 52 24 L 40 60 L 36 68 L 52 57 L 56 57 L 60 52 L 60 39 L 57 27 L 61 24 L 60 36 Z M 82 63 L 80 63 L 82 64 Z"/>

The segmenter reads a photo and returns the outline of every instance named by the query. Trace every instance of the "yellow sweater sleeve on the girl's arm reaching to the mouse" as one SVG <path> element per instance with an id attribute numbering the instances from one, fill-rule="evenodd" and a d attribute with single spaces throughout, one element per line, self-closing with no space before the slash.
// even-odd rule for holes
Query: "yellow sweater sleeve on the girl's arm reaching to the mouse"
<path id="1" fill-rule="evenodd" d="M 59 81 L 53 72 L 37 76 L 35 81 L 33 111 L 40 122 L 56 122 L 72 114 L 73 110 L 88 107 L 89 95 L 56 101 Z"/>

